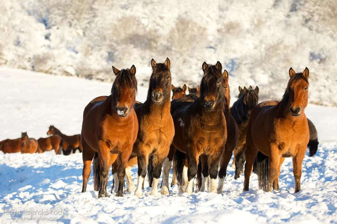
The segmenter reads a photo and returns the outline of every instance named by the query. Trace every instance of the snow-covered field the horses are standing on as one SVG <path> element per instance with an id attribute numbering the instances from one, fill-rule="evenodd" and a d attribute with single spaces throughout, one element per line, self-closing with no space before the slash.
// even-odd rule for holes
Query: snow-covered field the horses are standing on
<path id="1" fill-rule="evenodd" d="M 46 137 L 50 124 L 65 134 L 78 134 L 85 105 L 96 96 L 108 95 L 110 89 L 110 83 L 0 68 L 0 140 L 18 138 L 21 131 Z M 139 87 L 137 100 L 144 101 L 146 91 Z M 250 190 L 242 192 L 243 176 L 234 180 L 234 170 L 228 167 L 221 194 L 181 194 L 174 186 L 170 195 L 154 197 L 146 187 L 140 198 L 131 192 L 97 199 L 92 176 L 87 192 L 80 193 L 80 153 L 0 152 L 0 221 L 11 221 L 8 210 L 43 208 L 63 211 L 58 221 L 64 223 L 336 223 L 336 114 L 335 107 L 308 105 L 306 115 L 317 128 L 320 145 L 316 155 L 309 158 L 307 153 L 304 158 L 302 190 L 296 194 L 291 159 L 281 167 L 280 191 L 258 190 L 252 174 Z M 133 167 L 135 183 L 136 172 Z M 172 174 L 170 183 L 171 178 Z M 112 179 L 110 175 L 108 186 Z"/>

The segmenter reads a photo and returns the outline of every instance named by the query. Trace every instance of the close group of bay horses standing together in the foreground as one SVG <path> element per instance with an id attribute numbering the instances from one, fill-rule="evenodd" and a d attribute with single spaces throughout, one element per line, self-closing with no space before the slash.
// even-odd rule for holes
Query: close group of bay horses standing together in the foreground
<path id="1" fill-rule="evenodd" d="M 228 72 L 215 65 L 202 64 L 200 86 L 182 88 L 171 84 L 171 62 L 151 60 L 152 74 L 147 99 L 135 100 L 136 68 L 118 70 L 110 96 L 99 96 L 85 107 L 81 132 L 83 148 L 83 187 L 93 163 L 94 190 L 106 196 L 109 168 L 114 185 L 111 191 L 123 196 L 127 190 L 142 196 L 148 172 L 150 194 L 158 195 L 163 168 L 161 194 L 168 194 L 172 162 L 173 184 L 181 192 L 192 193 L 196 176 L 197 190 L 222 192 L 227 165 L 234 151 L 235 178 L 245 164 L 244 191 L 254 168 L 259 188 L 278 190 L 280 166 L 285 157 L 293 158 L 295 191 L 300 188 L 302 160 L 307 145 L 310 156 L 317 150 L 317 132 L 304 114 L 308 103 L 309 70 L 295 73 L 281 101 L 258 104 L 259 88 L 239 87 L 237 101 L 230 107 Z M 173 92 L 171 101 L 171 91 Z M 309 125 L 308 125 L 309 122 Z M 310 126 L 310 142 L 309 142 Z M 308 143 L 309 142 L 309 143 Z M 138 164 L 137 187 L 131 167 Z M 219 178 L 216 186 L 216 178 Z"/>

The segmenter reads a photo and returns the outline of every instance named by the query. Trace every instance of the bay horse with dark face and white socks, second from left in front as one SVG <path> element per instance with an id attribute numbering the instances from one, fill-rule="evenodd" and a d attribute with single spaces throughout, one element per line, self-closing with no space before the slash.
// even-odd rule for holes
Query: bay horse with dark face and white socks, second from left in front
<path id="1" fill-rule="evenodd" d="M 142 195 L 142 183 L 146 176 L 149 156 L 153 167 L 151 194 L 158 195 L 158 182 L 164 160 L 170 150 L 174 136 L 174 125 L 170 113 L 171 107 L 171 62 L 164 63 L 151 60 L 152 74 L 146 101 L 136 105 L 135 111 L 139 122 L 137 140 L 133 145 L 133 155 L 138 160 L 138 182 L 135 195 Z M 150 157 L 151 158 L 151 157 Z M 165 171 L 165 170 L 164 170 Z M 151 174 L 150 174 L 151 175 Z M 168 194 L 168 183 L 164 183 L 161 194 Z"/>

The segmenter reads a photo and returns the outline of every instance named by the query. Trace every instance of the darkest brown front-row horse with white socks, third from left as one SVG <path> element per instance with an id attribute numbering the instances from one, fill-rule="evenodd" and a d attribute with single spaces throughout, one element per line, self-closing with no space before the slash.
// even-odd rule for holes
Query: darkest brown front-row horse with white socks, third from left
<path id="1" fill-rule="evenodd" d="M 187 154 L 187 184 L 184 192 L 192 193 L 199 156 L 207 158 L 209 165 L 209 192 L 217 192 L 216 178 L 221 154 L 224 150 L 227 128 L 224 110 L 222 65 L 203 63 L 204 72 L 200 97 L 192 102 L 172 101 L 175 126 L 173 145 Z M 178 186 L 183 185 L 183 161 L 177 160 Z"/>

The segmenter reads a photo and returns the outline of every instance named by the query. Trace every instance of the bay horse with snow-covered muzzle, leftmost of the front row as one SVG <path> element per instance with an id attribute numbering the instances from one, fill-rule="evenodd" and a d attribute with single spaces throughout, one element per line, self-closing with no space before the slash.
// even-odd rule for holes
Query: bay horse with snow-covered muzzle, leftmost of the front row
<path id="1" fill-rule="evenodd" d="M 83 186 L 86 191 L 93 160 L 94 190 L 98 197 L 106 197 L 109 168 L 117 167 L 118 189 L 123 196 L 125 168 L 138 133 L 134 111 L 137 92 L 136 68 L 118 70 L 112 67 L 116 79 L 110 96 L 91 100 L 83 112 L 81 143 L 83 146 Z M 117 184 L 117 183 L 116 183 Z"/>

